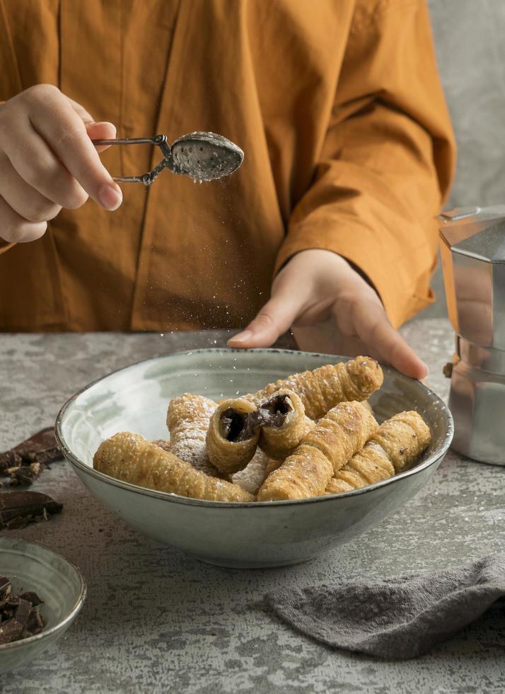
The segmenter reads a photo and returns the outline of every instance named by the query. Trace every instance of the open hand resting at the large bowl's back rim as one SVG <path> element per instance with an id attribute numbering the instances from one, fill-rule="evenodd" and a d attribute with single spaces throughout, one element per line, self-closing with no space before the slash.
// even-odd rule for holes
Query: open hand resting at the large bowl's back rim
<path id="1" fill-rule="evenodd" d="M 332 251 L 310 249 L 291 258 L 275 278 L 270 300 L 228 345 L 269 347 L 289 328 L 307 351 L 366 354 L 407 376 L 428 373 L 390 324 L 375 290 Z"/>

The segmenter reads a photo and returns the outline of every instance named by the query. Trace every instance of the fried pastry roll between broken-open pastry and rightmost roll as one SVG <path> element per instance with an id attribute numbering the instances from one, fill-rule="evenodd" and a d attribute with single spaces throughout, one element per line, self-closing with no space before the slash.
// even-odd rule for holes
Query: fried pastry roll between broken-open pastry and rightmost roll
<path id="1" fill-rule="evenodd" d="M 306 433 L 292 455 L 262 484 L 258 501 L 308 499 L 324 494 L 333 475 L 378 429 L 360 402 L 341 402 Z"/>

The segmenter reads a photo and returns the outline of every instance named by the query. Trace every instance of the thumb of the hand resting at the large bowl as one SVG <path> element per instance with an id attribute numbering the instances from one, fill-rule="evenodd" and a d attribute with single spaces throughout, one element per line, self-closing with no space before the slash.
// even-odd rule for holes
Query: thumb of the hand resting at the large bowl
<path id="1" fill-rule="evenodd" d="M 272 295 L 247 328 L 228 340 L 228 346 L 269 347 L 289 330 L 300 310 L 301 301 L 296 292 Z"/>

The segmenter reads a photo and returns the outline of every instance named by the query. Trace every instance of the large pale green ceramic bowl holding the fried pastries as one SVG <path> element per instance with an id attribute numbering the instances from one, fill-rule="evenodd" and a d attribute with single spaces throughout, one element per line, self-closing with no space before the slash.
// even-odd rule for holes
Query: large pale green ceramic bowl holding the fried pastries
<path id="1" fill-rule="evenodd" d="M 384 385 L 371 398 L 378 419 L 415 409 L 429 423 L 433 440 L 412 470 L 336 496 L 235 504 L 186 499 L 96 472 L 93 453 L 118 431 L 168 438 L 166 409 L 176 395 L 193 392 L 219 399 L 342 359 L 276 349 L 204 349 L 143 361 L 74 395 L 57 418 L 57 439 L 86 487 L 154 540 L 224 567 L 296 564 L 352 540 L 391 516 L 426 484 L 453 436 L 451 414 L 434 392 L 384 369 Z"/>

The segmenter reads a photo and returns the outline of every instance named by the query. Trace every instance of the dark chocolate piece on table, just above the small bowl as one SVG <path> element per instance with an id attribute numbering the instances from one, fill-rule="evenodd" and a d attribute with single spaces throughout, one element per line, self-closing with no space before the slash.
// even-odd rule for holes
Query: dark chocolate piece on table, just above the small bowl
<path id="1" fill-rule="evenodd" d="M 49 520 L 53 513 L 59 513 L 62 508 L 62 504 L 37 491 L 4 492 L 0 494 L 0 530 L 25 528 L 28 523 Z"/>

